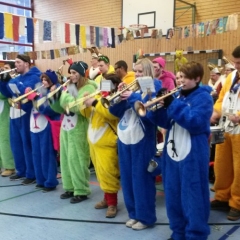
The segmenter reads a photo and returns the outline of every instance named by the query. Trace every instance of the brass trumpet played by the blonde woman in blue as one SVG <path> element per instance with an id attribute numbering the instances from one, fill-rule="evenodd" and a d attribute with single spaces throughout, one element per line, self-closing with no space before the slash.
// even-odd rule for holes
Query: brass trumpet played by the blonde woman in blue
<path id="1" fill-rule="evenodd" d="M 116 93 L 106 97 L 106 98 L 101 98 L 101 103 L 105 108 L 109 108 L 111 105 L 119 102 L 120 95 L 125 92 L 126 90 L 130 90 L 133 92 L 136 92 L 140 89 L 140 85 L 138 83 L 138 80 L 136 79 L 132 83 L 128 84 L 125 86 L 122 90 L 117 91 Z"/>

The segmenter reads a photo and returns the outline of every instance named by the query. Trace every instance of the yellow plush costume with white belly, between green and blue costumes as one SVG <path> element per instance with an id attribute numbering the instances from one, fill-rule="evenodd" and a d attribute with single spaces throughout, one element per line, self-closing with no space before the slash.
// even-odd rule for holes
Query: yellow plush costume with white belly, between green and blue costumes
<path id="1" fill-rule="evenodd" d="M 100 188 L 104 192 L 104 200 L 108 206 L 116 206 L 117 192 L 120 189 L 116 133 L 118 118 L 109 113 L 99 101 L 95 107 L 87 108 L 81 113 L 90 119 L 90 156 Z"/>

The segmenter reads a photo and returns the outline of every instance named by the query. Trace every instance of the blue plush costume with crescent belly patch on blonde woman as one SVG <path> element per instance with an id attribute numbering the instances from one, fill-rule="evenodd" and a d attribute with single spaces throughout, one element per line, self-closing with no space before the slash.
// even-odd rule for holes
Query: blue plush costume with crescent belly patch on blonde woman
<path id="1" fill-rule="evenodd" d="M 154 80 L 155 90 L 159 91 L 161 82 Z M 154 96 L 154 94 L 153 94 Z M 155 177 L 148 171 L 148 164 L 156 152 L 156 126 L 146 117 L 138 117 L 134 110 L 136 101 L 147 102 L 148 95 L 142 99 L 140 93 L 132 93 L 110 107 L 110 112 L 120 118 L 118 124 L 118 154 L 121 185 L 125 205 L 130 219 L 147 226 L 153 225 L 155 210 Z"/>

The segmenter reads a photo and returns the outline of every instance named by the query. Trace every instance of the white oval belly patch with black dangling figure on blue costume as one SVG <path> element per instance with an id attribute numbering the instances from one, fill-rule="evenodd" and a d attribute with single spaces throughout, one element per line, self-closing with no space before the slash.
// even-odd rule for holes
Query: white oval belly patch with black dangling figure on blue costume
<path id="1" fill-rule="evenodd" d="M 189 154 L 191 147 L 189 132 L 175 123 L 169 132 L 167 143 L 168 156 L 176 162 L 182 161 Z"/>

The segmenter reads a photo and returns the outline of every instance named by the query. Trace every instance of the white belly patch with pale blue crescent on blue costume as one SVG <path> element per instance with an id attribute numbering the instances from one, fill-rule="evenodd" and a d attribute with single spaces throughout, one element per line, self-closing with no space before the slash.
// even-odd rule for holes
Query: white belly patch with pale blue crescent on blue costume
<path id="1" fill-rule="evenodd" d="M 118 137 L 124 144 L 136 144 L 144 137 L 144 125 L 133 109 L 125 111 L 118 123 Z"/>

